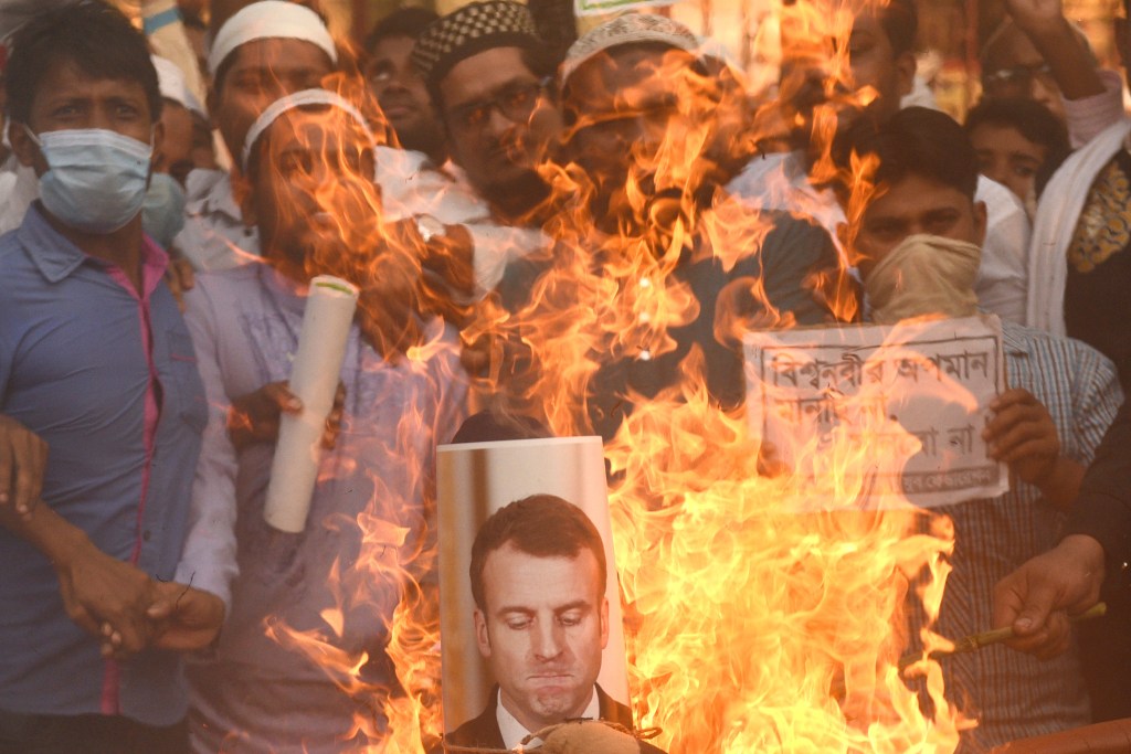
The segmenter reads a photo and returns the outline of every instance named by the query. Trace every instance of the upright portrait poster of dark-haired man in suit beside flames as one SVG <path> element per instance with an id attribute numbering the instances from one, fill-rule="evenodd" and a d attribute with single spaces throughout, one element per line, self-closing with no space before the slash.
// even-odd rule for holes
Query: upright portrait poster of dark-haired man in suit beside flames
<path id="1" fill-rule="evenodd" d="M 443 445 L 438 484 L 446 740 L 513 746 L 500 707 L 631 726 L 601 439 Z"/>

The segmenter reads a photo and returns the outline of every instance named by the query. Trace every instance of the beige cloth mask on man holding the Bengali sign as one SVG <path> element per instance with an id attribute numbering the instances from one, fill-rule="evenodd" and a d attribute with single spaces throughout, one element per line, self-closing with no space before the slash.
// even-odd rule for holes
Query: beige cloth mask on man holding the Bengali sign
<path id="1" fill-rule="evenodd" d="M 924 314 L 973 317 L 974 281 L 982 249 L 938 235 L 910 235 L 875 263 L 864 279 L 872 321 L 895 324 Z"/>

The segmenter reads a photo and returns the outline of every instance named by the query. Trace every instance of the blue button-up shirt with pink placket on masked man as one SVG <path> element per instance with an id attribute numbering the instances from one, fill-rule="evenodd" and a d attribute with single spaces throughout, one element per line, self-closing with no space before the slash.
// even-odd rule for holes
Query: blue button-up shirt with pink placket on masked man
<path id="1" fill-rule="evenodd" d="M 104 553 L 171 580 L 207 421 L 192 341 L 148 239 L 143 292 L 37 208 L 0 237 L 0 413 L 50 445 L 43 500 Z M 183 569 L 183 565 L 182 565 Z M 191 571 L 191 569 L 190 569 Z M 0 528 L 0 709 L 184 716 L 179 657 L 115 664 L 63 609 L 48 558 Z"/>

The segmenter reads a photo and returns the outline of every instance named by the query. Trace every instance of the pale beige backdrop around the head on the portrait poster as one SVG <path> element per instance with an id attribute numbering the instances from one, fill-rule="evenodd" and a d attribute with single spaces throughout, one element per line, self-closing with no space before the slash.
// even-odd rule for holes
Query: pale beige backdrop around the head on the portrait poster
<path id="1" fill-rule="evenodd" d="M 605 545 L 608 643 L 597 683 L 628 703 L 628 669 L 620 591 L 608 521 L 601 437 L 545 437 L 441 445 L 437 456 L 440 525 L 440 634 L 444 729 L 478 716 L 494 679 L 475 641 L 468 567 L 480 526 L 529 495 L 550 494 L 579 506 Z"/>

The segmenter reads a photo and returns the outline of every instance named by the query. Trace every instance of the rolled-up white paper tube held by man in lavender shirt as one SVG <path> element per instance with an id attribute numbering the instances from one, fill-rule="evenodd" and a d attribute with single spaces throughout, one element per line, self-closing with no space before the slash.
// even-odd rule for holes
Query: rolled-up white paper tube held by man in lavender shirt
<path id="1" fill-rule="evenodd" d="M 354 285 L 329 275 L 310 281 L 290 380 L 291 392 L 302 400 L 302 411 L 283 414 L 279 418 L 279 437 L 264 504 L 264 519 L 282 531 L 297 534 L 307 526 L 326 417 L 334 408 L 356 306 Z"/>

